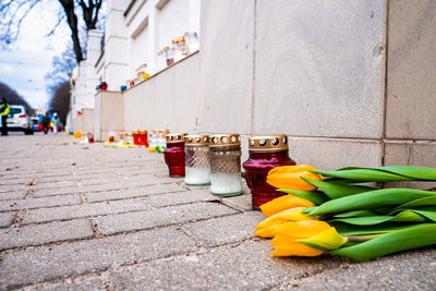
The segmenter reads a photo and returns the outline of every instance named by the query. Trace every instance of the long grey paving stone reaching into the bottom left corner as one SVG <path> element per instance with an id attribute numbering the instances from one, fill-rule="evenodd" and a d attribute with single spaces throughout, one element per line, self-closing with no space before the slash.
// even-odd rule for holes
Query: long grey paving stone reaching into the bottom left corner
<path id="1" fill-rule="evenodd" d="M 0 289 L 195 251 L 194 242 L 174 228 L 21 250 L 3 254 Z"/>

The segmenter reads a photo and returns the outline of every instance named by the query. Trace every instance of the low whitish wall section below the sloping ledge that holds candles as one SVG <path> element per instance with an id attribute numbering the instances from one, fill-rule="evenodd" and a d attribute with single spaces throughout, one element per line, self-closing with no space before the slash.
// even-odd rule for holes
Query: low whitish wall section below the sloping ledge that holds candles
<path id="1" fill-rule="evenodd" d="M 123 93 L 124 130 L 192 131 L 198 116 L 199 54 Z"/>

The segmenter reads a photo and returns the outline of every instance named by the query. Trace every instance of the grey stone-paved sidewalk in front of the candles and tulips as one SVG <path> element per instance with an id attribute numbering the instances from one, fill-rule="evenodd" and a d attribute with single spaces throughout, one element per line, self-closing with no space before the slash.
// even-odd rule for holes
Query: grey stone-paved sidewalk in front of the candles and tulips
<path id="1" fill-rule="evenodd" d="M 0 136 L 0 289 L 434 290 L 434 247 L 355 264 L 276 258 L 247 189 L 217 198 L 162 155 Z"/>

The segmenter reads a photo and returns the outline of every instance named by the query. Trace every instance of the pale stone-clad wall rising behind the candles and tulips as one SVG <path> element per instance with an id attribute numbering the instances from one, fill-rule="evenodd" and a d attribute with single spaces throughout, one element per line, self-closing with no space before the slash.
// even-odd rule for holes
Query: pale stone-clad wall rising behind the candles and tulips
<path id="1" fill-rule="evenodd" d="M 125 92 L 124 130 L 287 133 L 320 169 L 436 167 L 436 3 L 220 0 L 201 52 Z M 433 184 L 420 184 L 429 187 Z"/>

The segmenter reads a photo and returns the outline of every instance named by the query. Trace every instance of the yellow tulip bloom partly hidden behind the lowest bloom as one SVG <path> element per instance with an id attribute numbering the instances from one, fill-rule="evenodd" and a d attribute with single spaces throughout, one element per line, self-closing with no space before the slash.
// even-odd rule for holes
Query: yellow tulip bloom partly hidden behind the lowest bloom
<path id="1" fill-rule="evenodd" d="M 256 226 L 256 235 L 262 238 L 274 238 L 277 228 L 284 222 L 316 220 L 316 217 L 303 214 L 305 208 L 306 207 L 294 207 L 267 217 Z"/>

